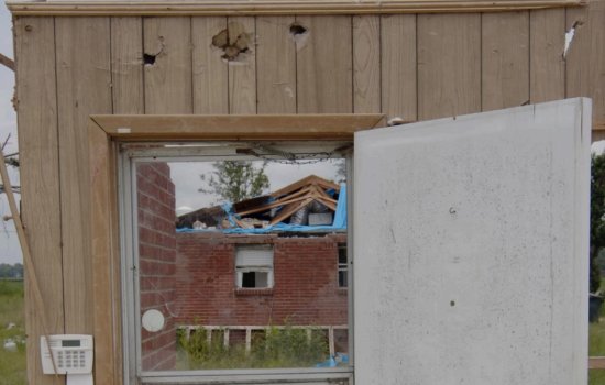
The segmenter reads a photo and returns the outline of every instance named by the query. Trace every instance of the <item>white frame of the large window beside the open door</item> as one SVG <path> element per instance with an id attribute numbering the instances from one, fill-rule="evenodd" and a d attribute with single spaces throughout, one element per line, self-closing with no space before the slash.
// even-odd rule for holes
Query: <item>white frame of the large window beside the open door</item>
<path id="1" fill-rule="evenodd" d="M 204 141 L 200 141 L 204 142 Z M 275 142 L 272 142 L 275 143 Z M 304 142 L 306 151 L 309 143 Z M 315 142 L 317 143 L 317 142 Z M 162 142 L 162 144 L 170 144 Z M 292 384 L 334 384 L 342 381 L 343 384 L 353 384 L 353 297 L 352 290 L 348 295 L 348 328 L 349 328 L 349 366 L 344 367 L 294 367 L 294 369 L 252 369 L 252 370 L 195 370 L 195 371 L 154 371 L 142 370 L 141 358 L 141 306 L 139 288 L 139 241 L 136 217 L 136 173 L 138 163 L 142 162 L 183 162 L 183 161 L 220 161 L 232 160 L 234 156 L 221 155 L 217 147 L 178 150 L 167 147 L 148 146 L 148 142 L 138 146 L 136 143 L 127 144 L 128 148 L 120 152 L 118 158 L 120 197 L 120 223 L 121 223 L 121 255 L 122 255 L 122 328 L 123 328 L 123 384 L 274 384 L 275 381 Z M 317 143 L 321 146 L 321 143 Z M 350 146 L 352 148 L 352 146 Z M 242 155 L 238 155 L 242 158 Z M 353 153 L 343 154 L 346 161 L 346 188 L 348 188 L 348 226 L 346 238 L 348 262 L 352 266 L 352 186 L 353 186 Z M 352 274 L 348 274 L 349 287 L 352 286 Z M 245 288 L 243 288 L 245 289 Z"/>

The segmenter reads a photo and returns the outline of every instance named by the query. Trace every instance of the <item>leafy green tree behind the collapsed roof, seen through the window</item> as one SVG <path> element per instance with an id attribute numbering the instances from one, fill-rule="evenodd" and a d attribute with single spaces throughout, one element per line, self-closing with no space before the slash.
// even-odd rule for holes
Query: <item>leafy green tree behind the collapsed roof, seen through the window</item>
<path id="1" fill-rule="evenodd" d="M 252 162 L 245 161 L 215 162 L 215 170 L 209 179 L 206 179 L 206 175 L 200 175 L 207 186 L 199 191 L 218 195 L 222 200 L 231 202 L 260 196 L 270 187 L 265 166 L 263 163 L 257 168 Z"/>

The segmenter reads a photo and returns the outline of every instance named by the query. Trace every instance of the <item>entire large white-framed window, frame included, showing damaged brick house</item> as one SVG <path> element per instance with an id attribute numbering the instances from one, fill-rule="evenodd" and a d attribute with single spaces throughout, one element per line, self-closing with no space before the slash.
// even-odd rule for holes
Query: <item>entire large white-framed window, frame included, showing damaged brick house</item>
<path id="1" fill-rule="evenodd" d="M 129 384 L 351 378 L 351 298 L 320 290 L 346 282 L 346 145 L 121 144 Z M 249 166 L 261 193 L 213 188 Z"/>

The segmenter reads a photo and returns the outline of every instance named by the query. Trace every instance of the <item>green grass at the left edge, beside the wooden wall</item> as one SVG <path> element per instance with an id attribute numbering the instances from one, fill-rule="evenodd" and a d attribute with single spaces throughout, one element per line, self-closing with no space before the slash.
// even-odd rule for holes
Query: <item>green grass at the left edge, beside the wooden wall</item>
<path id="1" fill-rule="evenodd" d="M 9 339 L 16 343 L 15 352 L 3 349 Z M 0 385 L 26 384 L 25 378 L 23 282 L 0 279 Z"/>

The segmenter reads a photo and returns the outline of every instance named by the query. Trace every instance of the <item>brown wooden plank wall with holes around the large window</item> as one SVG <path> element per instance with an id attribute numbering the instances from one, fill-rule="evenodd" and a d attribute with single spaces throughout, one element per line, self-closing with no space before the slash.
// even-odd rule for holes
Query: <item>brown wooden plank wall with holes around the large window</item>
<path id="1" fill-rule="evenodd" d="M 226 29 L 231 45 L 250 40 L 230 63 L 212 44 Z M 425 120 L 586 96 L 605 124 L 605 0 L 485 14 L 15 18 L 14 33 L 23 220 L 50 331 L 95 332 L 107 352 L 97 363 L 102 384 L 121 376 L 119 317 L 92 316 L 119 287 L 92 285 L 89 114 L 382 111 Z M 116 268 L 108 262 L 99 274 L 119 276 Z M 31 304 L 30 383 L 52 384 L 40 371 L 41 315 Z"/>

